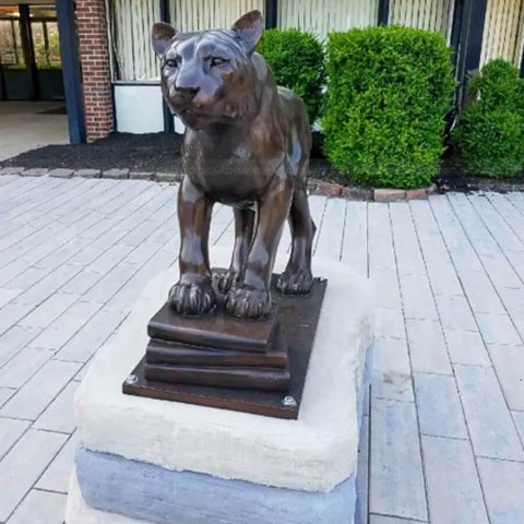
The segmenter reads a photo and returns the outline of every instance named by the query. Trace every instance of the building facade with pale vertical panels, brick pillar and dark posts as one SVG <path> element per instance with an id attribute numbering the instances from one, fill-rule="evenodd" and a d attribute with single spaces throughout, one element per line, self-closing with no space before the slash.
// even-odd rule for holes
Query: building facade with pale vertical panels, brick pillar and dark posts
<path id="1" fill-rule="evenodd" d="M 15 0 L 0 0 L 0 24 L 9 3 Z M 56 0 L 53 9 L 73 142 L 112 131 L 182 131 L 162 100 L 150 44 L 157 21 L 200 31 L 227 27 L 259 9 L 267 27 L 298 27 L 320 39 L 332 31 L 400 24 L 441 33 L 454 48 L 462 86 L 492 58 L 524 73 L 524 0 Z"/>

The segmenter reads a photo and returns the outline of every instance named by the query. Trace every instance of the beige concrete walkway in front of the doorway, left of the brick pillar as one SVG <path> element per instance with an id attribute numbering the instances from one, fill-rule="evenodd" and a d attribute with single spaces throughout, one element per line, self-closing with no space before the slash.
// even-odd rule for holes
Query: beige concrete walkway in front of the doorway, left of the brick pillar
<path id="1" fill-rule="evenodd" d="M 69 142 L 68 117 L 43 115 L 57 102 L 0 102 L 0 162 L 29 150 Z"/>

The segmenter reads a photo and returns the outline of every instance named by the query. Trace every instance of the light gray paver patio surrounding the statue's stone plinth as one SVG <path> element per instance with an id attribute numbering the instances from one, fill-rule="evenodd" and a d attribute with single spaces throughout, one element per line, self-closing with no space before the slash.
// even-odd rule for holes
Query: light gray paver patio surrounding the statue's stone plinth
<path id="1" fill-rule="evenodd" d="M 62 522 L 75 389 L 176 261 L 176 192 L 0 177 L 0 522 Z M 377 287 L 370 524 L 524 523 L 524 194 L 310 203 L 315 257 Z"/>

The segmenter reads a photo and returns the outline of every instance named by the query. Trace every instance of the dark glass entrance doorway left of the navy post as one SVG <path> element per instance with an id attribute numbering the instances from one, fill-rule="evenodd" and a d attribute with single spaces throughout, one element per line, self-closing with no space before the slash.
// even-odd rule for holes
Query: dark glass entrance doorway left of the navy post
<path id="1" fill-rule="evenodd" d="M 0 100 L 63 100 L 55 4 L 0 5 Z"/>

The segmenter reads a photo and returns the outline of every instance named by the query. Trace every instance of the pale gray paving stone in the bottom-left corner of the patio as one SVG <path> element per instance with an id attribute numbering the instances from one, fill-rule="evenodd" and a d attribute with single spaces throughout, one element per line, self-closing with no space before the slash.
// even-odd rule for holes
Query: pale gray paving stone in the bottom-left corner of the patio
<path id="1" fill-rule="evenodd" d="M 0 522 L 19 505 L 67 440 L 67 436 L 29 429 L 0 462 Z"/>

